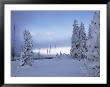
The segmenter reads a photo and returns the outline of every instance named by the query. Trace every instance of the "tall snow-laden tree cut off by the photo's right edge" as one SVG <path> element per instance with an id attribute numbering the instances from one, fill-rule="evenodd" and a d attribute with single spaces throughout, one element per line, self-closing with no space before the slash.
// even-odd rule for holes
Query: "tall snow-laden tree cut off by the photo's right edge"
<path id="1" fill-rule="evenodd" d="M 100 76 L 100 12 L 94 12 L 89 25 L 87 50 L 89 76 Z"/>

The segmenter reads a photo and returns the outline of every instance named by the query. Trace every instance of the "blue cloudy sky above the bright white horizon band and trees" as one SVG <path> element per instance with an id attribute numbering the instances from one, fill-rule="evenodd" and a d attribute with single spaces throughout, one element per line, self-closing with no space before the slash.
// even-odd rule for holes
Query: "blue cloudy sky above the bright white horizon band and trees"
<path id="1" fill-rule="evenodd" d="M 89 28 L 94 11 L 12 11 L 11 36 L 13 45 L 15 25 L 15 47 L 23 45 L 23 32 L 29 30 L 33 39 L 33 48 L 50 46 L 70 47 L 74 19 Z"/>

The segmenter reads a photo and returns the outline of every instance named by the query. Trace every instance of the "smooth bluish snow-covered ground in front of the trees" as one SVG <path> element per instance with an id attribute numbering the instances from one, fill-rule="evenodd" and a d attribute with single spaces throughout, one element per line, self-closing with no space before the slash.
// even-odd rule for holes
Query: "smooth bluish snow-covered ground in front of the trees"
<path id="1" fill-rule="evenodd" d="M 53 59 L 39 59 L 32 66 L 19 66 L 19 60 L 11 62 L 14 77 L 86 77 L 88 72 L 84 60 L 72 59 L 69 55 Z"/>

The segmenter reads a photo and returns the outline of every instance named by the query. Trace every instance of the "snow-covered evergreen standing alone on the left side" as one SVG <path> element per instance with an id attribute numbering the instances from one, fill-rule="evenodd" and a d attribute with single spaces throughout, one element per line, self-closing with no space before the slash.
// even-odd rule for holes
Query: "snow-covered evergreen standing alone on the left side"
<path id="1" fill-rule="evenodd" d="M 28 30 L 24 31 L 24 45 L 21 52 L 21 59 L 20 59 L 20 65 L 30 65 L 32 66 L 32 57 L 33 57 L 33 51 L 32 51 L 32 36 Z"/>

